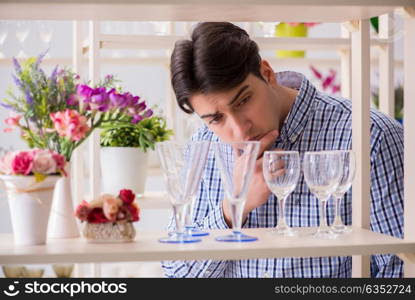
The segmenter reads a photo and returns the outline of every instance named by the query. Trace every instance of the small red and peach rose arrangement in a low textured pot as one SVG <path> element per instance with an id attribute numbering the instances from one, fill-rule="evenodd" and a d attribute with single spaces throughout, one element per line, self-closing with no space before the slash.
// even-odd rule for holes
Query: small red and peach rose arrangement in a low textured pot
<path id="1" fill-rule="evenodd" d="M 140 208 L 131 190 L 121 190 L 118 196 L 103 194 L 87 202 L 83 200 L 75 216 L 85 222 L 83 236 L 93 243 L 131 242 L 135 237 L 132 222 L 140 220 Z"/>

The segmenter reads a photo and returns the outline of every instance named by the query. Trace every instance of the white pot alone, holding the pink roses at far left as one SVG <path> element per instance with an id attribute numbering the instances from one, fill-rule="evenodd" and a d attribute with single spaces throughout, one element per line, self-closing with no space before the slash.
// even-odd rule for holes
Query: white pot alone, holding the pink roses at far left
<path id="1" fill-rule="evenodd" d="M 37 183 L 34 176 L 0 176 L 7 190 L 15 244 L 46 243 L 53 191 L 60 178 L 48 176 Z"/>

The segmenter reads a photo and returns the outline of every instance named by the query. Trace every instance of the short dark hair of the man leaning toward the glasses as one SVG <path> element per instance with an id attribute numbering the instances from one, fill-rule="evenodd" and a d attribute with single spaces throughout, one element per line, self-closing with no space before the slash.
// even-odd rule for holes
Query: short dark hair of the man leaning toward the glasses
<path id="1" fill-rule="evenodd" d="M 228 22 L 199 23 L 191 40 L 177 41 L 170 73 L 179 107 L 193 113 L 189 97 L 241 84 L 249 73 L 262 79 L 258 45 L 245 30 Z"/>

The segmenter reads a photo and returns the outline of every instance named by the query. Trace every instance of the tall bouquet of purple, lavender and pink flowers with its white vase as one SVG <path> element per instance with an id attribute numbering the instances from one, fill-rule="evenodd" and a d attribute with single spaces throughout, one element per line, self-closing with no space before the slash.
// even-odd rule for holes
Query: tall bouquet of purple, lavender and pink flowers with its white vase
<path id="1" fill-rule="evenodd" d="M 140 97 L 121 93 L 114 88 L 114 78 L 105 77 L 96 86 L 80 82 L 77 74 L 58 66 L 50 75 L 40 68 L 43 57 L 29 58 L 20 64 L 13 59 L 13 79 L 18 93 L 8 91 L 0 104 L 13 111 L 6 120 L 18 128 L 29 148 L 50 149 L 69 163 L 73 151 L 105 123 L 136 124 L 151 115 Z M 79 236 L 73 217 L 70 188 L 70 165 L 56 183 L 50 220 L 49 237 Z"/>

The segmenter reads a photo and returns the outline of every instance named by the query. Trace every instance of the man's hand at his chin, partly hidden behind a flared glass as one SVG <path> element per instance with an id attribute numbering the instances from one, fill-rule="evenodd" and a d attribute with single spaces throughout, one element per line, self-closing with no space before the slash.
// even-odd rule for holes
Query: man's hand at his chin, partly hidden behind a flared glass
<path id="1" fill-rule="evenodd" d="M 255 162 L 254 171 L 252 173 L 251 184 L 248 188 L 247 200 L 242 213 L 242 224 L 245 222 L 250 211 L 267 202 L 271 193 L 262 173 L 262 156 L 264 152 L 270 149 L 275 143 L 278 134 L 278 130 L 273 130 L 268 132 L 259 140 L 261 144 L 259 147 L 258 158 Z M 230 207 L 226 198 L 222 201 L 222 208 L 226 223 L 229 227 L 232 227 L 232 219 L 229 211 Z"/>

